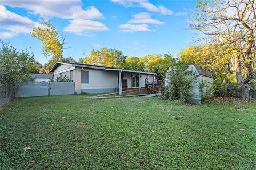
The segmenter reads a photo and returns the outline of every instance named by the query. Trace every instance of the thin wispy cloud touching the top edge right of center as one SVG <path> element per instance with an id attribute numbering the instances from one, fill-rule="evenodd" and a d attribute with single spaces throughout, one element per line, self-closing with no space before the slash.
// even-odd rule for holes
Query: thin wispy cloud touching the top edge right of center
<path id="1" fill-rule="evenodd" d="M 125 7 L 143 7 L 150 12 L 159 12 L 163 15 L 172 15 L 173 11 L 162 5 L 153 5 L 148 0 L 111 0 L 114 3 L 121 4 Z"/>

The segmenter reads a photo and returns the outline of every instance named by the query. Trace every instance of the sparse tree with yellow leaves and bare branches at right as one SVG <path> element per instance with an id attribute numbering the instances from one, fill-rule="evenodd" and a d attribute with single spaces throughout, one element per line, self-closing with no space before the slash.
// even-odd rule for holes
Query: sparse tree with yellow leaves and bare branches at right
<path id="1" fill-rule="evenodd" d="M 256 50 L 254 0 L 210 0 L 199 2 L 197 8 L 190 27 L 199 31 L 198 40 L 217 47 L 217 60 L 233 61 L 241 97 L 250 100 L 248 83 Z"/>

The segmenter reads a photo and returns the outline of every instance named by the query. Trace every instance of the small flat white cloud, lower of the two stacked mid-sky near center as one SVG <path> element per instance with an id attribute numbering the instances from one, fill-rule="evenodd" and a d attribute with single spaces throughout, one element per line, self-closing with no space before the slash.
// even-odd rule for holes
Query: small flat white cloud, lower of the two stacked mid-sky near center
<path id="1" fill-rule="evenodd" d="M 121 30 L 121 32 L 135 32 L 135 31 L 155 31 L 154 29 L 150 29 L 149 26 L 147 24 L 139 24 L 139 25 L 135 25 L 135 24 L 122 24 L 119 25 L 119 28 Z"/>

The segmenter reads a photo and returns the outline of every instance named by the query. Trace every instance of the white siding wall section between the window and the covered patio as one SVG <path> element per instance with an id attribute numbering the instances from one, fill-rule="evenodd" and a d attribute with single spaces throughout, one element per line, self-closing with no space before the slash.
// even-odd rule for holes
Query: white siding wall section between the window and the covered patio
<path id="1" fill-rule="evenodd" d="M 89 71 L 89 83 L 81 84 L 81 89 L 110 89 L 117 87 L 116 71 L 83 69 Z"/>

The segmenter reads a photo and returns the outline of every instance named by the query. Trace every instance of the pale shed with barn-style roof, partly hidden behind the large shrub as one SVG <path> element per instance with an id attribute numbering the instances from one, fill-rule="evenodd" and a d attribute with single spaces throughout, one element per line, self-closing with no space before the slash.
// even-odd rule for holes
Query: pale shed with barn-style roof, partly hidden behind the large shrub
<path id="1" fill-rule="evenodd" d="M 187 70 L 193 71 L 194 76 L 196 77 L 196 83 L 194 84 L 194 86 L 192 88 L 194 95 L 191 98 L 191 103 L 201 104 L 200 84 L 202 81 L 207 81 L 210 84 L 212 84 L 213 83 L 212 74 L 209 71 L 203 70 L 194 64 L 189 64 Z M 165 80 L 164 80 L 165 86 L 168 84 L 167 74 L 168 74 L 168 71 L 165 75 Z"/>

